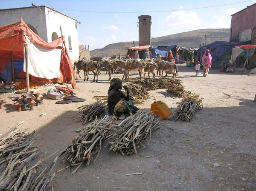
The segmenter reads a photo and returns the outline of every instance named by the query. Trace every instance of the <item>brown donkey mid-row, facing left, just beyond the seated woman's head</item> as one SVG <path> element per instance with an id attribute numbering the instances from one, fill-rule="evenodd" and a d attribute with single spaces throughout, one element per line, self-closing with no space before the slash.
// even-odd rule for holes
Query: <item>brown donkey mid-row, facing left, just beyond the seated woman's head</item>
<path id="1" fill-rule="evenodd" d="M 129 77 L 129 71 L 139 71 L 140 74 L 140 80 L 142 80 L 142 74 L 145 78 L 145 67 L 146 64 L 141 61 L 140 59 L 136 60 L 135 66 L 133 68 L 128 68 L 128 64 L 127 61 L 123 61 L 123 60 L 116 60 L 114 59 L 114 64 L 116 64 L 119 68 L 122 68 L 125 71 L 125 81 L 129 81 L 130 77 Z"/>

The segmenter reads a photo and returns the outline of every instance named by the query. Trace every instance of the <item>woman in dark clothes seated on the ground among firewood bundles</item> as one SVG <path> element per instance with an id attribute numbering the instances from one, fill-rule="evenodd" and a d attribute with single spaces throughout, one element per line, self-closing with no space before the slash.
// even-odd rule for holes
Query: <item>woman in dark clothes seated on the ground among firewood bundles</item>
<path id="1" fill-rule="evenodd" d="M 124 88 L 127 95 L 121 91 L 122 80 L 119 78 L 113 78 L 108 88 L 108 112 L 111 116 L 114 115 L 120 120 L 128 117 L 130 113 L 135 114 L 139 110 L 134 106 L 133 98 L 130 97 L 127 86 L 124 86 Z"/>

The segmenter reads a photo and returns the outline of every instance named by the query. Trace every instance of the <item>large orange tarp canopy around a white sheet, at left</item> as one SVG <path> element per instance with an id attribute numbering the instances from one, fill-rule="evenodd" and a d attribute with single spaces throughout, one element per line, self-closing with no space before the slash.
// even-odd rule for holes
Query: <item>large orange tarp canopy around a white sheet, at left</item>
<path id="1" fill-rule="evenodd" d="M 42 48 L 52 49 L 58 48 L 62 49 L 61 51 L 61 63 L 60 71 L 61 78 L 59 79 L 44 79 L 34 76 L 30 76 L 31 80 L 40 80 L 45 82 L 64 82 L 72 84 L 73 88 L 76 88 L 76 81 L 71 81 L 71 75 L 73 79 L 75 78 L 75 72 L 72 67 L 72 62 L 68 55 L 68 52 L 62 46 L 59 46 L 64 42 L 65 37 L 59 37 L 58 39 L 46 43 L 42 40 L 37 34 L 35 34 L 23 20 L 20 20 L 17 23 L 12 23 L 9 25 L 0 27 L 0 73 L 8 66 L 11 61 L 11 51 L 13 52 L 14 59 L 24 60 L 23 47 L 26 43 L 25 35 L 29 37 L 32 43 L 36 43 Z M 71 72 L 70 72 L 71 71 Z M 22 74 L 21 74 L 22 75 Z"/>

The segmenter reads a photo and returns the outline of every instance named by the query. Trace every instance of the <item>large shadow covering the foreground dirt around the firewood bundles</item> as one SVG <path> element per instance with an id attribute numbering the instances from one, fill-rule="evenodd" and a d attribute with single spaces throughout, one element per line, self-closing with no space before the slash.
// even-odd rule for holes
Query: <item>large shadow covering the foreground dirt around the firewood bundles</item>
<path id="1" fill-rule="evenodd" d="M 246 102 L 247 103 L 247 102 Z M 239 111 L 239 115 L 238 115 Z M 57 174 L 55 190 L 143 190 L 190 191 L 254 188 L 256 186 L 255 108 L 247 106 L 204 108 L 195 114 L 192 122 L 160 120 L 164 124 L 151 134 L 151 142 L 141 147 L 138 154 L 121 156 L 108 151 L 107 141 L 102 145 L 97 160 Z M 251 115 L 240 115 L 251 113 Z M 66 111 L 37 131 L 41 134 L 38 145 L 46 157 L 62 151 L 83 128 L 72 117 L 76 111 Z M 254 116 L 254 117 L 253 117 Z M 246 124 L 246 125 L 245 125 Z M 47 152 L 47 153 L 45 153 Z M 54 156 L 44 164 L 50 164 Z M 214 164 L 219 167 L 214 168 Z M 59 158 L 57 168 L 67 166 Z M 253 168 L 252 168 L 253 167 Z M 126 176 L 142 172 L 141 175 Z M 245 178 L 246 181 L 241 178 Z"/>

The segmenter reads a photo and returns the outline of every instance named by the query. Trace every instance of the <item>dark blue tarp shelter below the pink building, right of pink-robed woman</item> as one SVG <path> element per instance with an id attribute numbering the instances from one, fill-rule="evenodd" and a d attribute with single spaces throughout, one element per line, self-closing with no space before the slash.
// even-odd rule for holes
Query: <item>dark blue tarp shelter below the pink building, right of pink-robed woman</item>
<path id="1" fill-rule="evenodd" d="M 232 54 L 232 49 L 235 48 L 235 46 L 241 46 L 245 44 L 251 44 L 251 41 L 244 41 L 244 42 L 225 42 L 225 41 L 215 41 L 213 43 L 210 43 L 206 46 L 202 46 L 199 48 L 200 51 L 200 61 L 202 61 L 202 57 L 206 51 L 206 49 L 209 49 L 210 54 L 212 55 L 212 63 L 215 61 L 221 60 L 221 57 L 227 54 Z"/>

